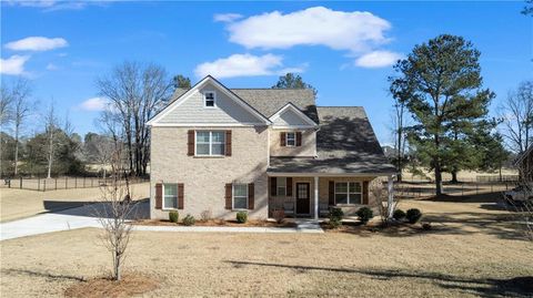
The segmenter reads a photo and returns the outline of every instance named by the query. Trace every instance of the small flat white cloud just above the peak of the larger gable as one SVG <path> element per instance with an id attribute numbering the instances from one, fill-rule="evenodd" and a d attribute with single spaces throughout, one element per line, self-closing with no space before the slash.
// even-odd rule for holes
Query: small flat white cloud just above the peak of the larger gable
<path id="1" fill-rule="evenodd" d="M 303 72 L 303 68 L 283 68 L 281 55 L 232 54 L 212 62 L 204 62 L 194 69 L 197 76 L 208 74 L 214 78 L 258 76 L 291 72 Z"/>

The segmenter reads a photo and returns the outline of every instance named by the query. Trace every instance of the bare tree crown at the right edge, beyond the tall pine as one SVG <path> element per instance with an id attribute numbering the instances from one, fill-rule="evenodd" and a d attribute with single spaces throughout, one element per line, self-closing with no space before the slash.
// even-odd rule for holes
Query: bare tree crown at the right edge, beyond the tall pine
<path id="1" fill-rule="evenodd" d="M 533 81 L 525 81 L 507 95 L 501 109 L 502 134 L 510 148 L 521 154 L 533 140 Z"/>

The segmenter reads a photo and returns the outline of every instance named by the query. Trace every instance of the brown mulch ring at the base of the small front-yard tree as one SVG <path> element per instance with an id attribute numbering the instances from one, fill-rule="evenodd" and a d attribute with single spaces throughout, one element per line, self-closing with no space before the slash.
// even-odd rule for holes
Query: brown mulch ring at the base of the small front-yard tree
<path id="1" fill-rule="evenodd" d="M 128 274 L 120 281 L 109 277 L 99 277 L 80 281 L 64 290 L 66 297 L 131 297 L 158 288 L 159 282 L 147 276 Z"/>

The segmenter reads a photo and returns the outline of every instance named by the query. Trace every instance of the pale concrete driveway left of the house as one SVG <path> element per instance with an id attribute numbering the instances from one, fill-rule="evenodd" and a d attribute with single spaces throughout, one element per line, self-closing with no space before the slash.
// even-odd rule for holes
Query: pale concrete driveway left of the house
<path id="1" fill-rule="evenodd" d="M 103 214 L 104 204 L 94 203 L 0 224 L 0 240 L 76 228 L 101 227 L 95 214 Z M 139 202 L 133 214 L 135 214 L 137 218 L 148 218 L 148 201 Z"/>

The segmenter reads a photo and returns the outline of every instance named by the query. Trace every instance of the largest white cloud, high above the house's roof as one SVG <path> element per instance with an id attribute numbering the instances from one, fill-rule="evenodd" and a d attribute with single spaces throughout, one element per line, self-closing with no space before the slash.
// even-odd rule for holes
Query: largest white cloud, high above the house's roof
<path id="1" fill-rule="evenodd" d="M 230 41 L 248 49 L 289 49 L 325 45 L 351 53 L 370 51 L 389 41 L 391 24 L 370 12 L 334 11 L 314 7 L 283 14 L 279 11 L 252 16 L 228 25 Z"/>

